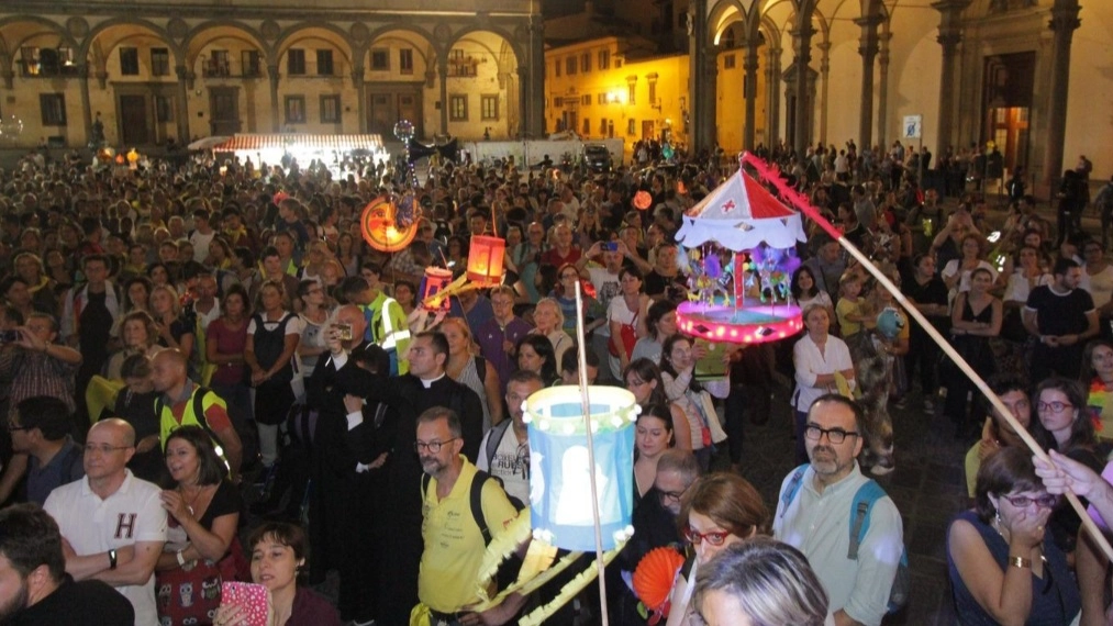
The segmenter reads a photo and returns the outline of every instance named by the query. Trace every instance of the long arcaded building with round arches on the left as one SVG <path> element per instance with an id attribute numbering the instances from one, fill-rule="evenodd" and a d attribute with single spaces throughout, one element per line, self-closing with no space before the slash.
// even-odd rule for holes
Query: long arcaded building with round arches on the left
<path id="1" fill-rule="evenodd" d="M 538 0 L 8 0 L 12 141 L 154 146 L 235 132 L 539 136 Z M 96 130 L 95 130 L 96 129 Z"/>

